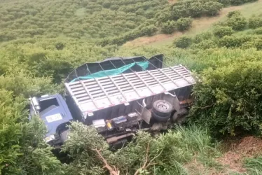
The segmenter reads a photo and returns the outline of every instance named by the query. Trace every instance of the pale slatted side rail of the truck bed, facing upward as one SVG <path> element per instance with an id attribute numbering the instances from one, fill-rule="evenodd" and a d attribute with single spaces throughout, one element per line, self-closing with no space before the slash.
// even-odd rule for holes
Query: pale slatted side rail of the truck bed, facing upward
<path id="1" fill-rule="evenodd" d="M 124 73 L 65 83 L 67 91 L 83 113 L 132 102 L 195 84 L 184 66 Z"/>

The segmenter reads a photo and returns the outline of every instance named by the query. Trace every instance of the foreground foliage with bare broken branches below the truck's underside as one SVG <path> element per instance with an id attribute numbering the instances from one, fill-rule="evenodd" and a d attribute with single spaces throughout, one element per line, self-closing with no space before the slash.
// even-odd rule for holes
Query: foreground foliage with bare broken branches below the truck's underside
<path id="1" fill-rule="evenodd" d="M 76 175 L 106 174 L 109 167 L 120 174 L 188 174 L 181 165 L 193 157 L 209 160 L 218 153 L 207 130 L 195 126 L 178 127 L 157 137 L 138 132 L 116 152 L 108 151 L 95 128 L 81 123 L 72 123 L 69 137 L 63 151 L 72 158 L 67 171 Z"/>

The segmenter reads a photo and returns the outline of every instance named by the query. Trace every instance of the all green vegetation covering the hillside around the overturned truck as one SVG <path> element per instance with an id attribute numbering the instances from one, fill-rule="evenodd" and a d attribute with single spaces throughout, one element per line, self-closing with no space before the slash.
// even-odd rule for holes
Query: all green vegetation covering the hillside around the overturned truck
<path id="1" fill-rule="evenodd" d="M 109 167 L 120 174 L 220 172 L 216 137 L 261 134 L 261 15 L 234 11 L 211 30 L 164 47 L 120 45 L 186 31 L 195 18 L 250 2 L 0 0 L 0 174 L 109 174 Z M 70 161 L 57 160 L 44 144 L 43 123 L 27 118 L 27 97 L 62 93 L 64 78 L 85 62 L 159 53 L 166 64 L 183 64 L 201 80 L 193 90 L 189 125 L 158 136 L 139 132 L 125 148 L 111 152 L 94 128 L 73 123 L 62 148 Z M 244 167 L 248 174 L 261 174 L 261 157 L 248 159 Z"/>

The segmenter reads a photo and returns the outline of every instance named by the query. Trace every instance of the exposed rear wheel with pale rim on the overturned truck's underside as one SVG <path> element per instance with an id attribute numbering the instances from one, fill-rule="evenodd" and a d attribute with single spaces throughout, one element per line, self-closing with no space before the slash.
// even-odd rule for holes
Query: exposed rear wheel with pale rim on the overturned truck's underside
<path id="1" fill-rule="evenodd" d="M 157 116 L 170 116 L 173 110 L 172 104 L 166 100 L 160 99 L 153 103 L 152 112 Z"/>

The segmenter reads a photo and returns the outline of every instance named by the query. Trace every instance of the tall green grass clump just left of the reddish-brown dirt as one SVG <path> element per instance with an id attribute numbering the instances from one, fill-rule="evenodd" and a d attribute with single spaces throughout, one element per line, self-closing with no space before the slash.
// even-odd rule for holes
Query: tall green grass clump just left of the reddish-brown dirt
<path id="1" fill-rule="evenodd" d="M 210 168 L 221 169 L 215 160 L 220 155 L 219 143 L 212 139 L 209 130 L 197 125 L 177 126 L 174 130 L 181 135 L 177 138 L 178 147 L 184 154 L 191 155 L 191 160 L 186 163 L 189 174 L 204 174 Z"/>

